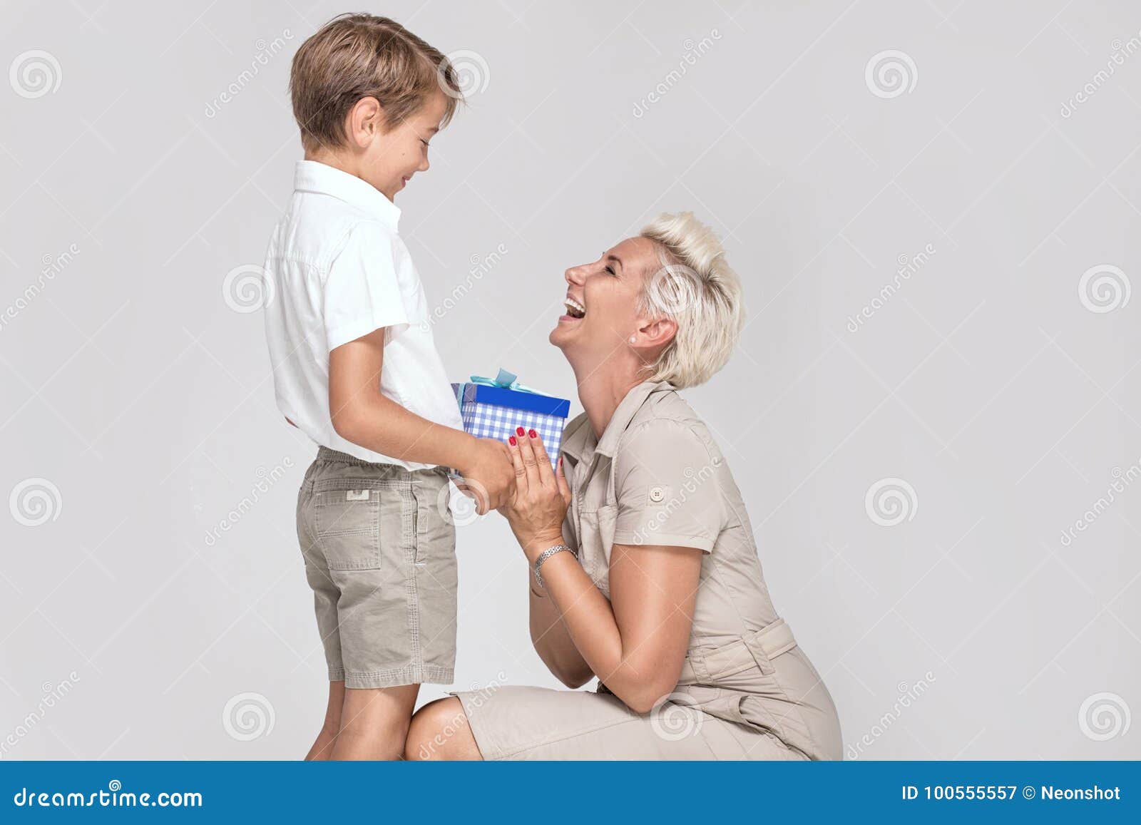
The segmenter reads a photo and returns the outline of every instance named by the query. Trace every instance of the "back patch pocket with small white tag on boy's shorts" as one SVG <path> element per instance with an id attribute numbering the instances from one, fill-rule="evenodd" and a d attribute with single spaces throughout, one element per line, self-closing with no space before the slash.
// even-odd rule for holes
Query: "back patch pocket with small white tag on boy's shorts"
<path id="1" fill-rule="evenodd" d="M 314 533 L 331 571 L 380 567 L 382 491 L 326 490 L 314 495 Z"/>

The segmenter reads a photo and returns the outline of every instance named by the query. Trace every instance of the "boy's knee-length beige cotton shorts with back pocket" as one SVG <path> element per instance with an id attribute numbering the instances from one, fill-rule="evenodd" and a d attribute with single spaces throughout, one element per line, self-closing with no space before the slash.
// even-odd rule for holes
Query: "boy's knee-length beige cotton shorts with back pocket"
<path id="1" fill-rule="evenodd" d="M 297 499 L 330 681 L 450 684 L 455 525 L 446 470 L 407 470 L 321 447 Z"/>

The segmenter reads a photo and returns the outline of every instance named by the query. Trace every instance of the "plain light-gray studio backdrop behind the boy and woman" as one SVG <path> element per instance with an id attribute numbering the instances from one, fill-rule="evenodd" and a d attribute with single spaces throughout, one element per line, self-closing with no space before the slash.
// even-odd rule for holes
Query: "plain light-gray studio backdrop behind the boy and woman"
<path id="1" fill-rule="evenodd" d="M 262 262 L 291 192 L 290 58 L 343 10 L 5 3 L 2 67 L 47 76 L 0 86 L 3 758 L 297 758 L 316 734 L 293 533 L 314 448 L 276 413 L 260 314 L 226 284 Z M 397 199 L 432 306 L 461 288 L 436 327 L 451 375 L 505 366 L 576 414 L 547 343 L 563 269 L 694 210 L 750 321 L 685 395 L 845 745 L 869 742 L 848 755 L 1141 757 L 1135 3 L 371 10 L 478 57 L 470 107 Z M 869 83 L 885 50 L 911 58 L 909 90 Z M 1107 265 L 1116 294 L 1079 294 Z M 1124 492 L 1084 516 L 1117 474 Z M 865 496 L 893 478 L 914 496 L 883 526 Z M 461 527 L 459 553 L 456 687 L 556 685 L 505 523 Z"/>

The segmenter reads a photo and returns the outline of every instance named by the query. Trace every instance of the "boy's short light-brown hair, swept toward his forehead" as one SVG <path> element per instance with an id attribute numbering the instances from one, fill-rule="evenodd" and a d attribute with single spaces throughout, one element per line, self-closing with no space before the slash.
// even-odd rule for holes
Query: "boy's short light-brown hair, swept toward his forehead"
<path id="1" fill-rule="evenodd" d="M 334 17 L 301 43 L 290 71 L 293 116 L 306 152 L 345 145 L 345 118 L 363 97 L 385 110 L 385 131 L 414 114 L 432 92 L 445 98 L 447 126 L 461 100 L 452 63 L 387 17 Z"/>

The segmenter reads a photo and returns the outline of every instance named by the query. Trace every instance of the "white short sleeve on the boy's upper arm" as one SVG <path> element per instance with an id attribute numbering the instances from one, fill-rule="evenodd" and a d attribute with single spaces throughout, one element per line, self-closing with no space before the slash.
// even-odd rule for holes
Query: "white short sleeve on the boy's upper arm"
<path id="1" fill-rule="evenodd" d="M 324 284 L 325 343 L 330 351 L 383 326 L 407 327 L 391 238 L 372 224 L 349 232 Z"/>

